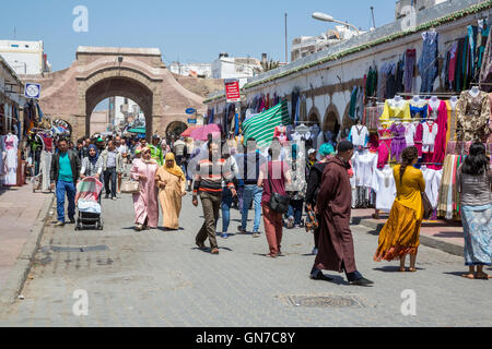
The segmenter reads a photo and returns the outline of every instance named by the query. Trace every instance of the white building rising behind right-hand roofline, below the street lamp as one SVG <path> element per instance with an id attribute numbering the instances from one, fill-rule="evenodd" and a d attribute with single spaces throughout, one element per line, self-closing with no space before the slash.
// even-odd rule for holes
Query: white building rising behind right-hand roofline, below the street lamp
<path id="1" fill-rule="evenodd" d="M 364 32 L 360 32 L 363 34 Z M 292 40 L 291 61 L 296 61 L 306 56 L 326 50 L 329 46 L 341 40 L 348 40 L 356 36 L 358 33 L 343 25 L 337 25 L 336 29 L 330 29 L 319 36 L 301 36 Z"/>

